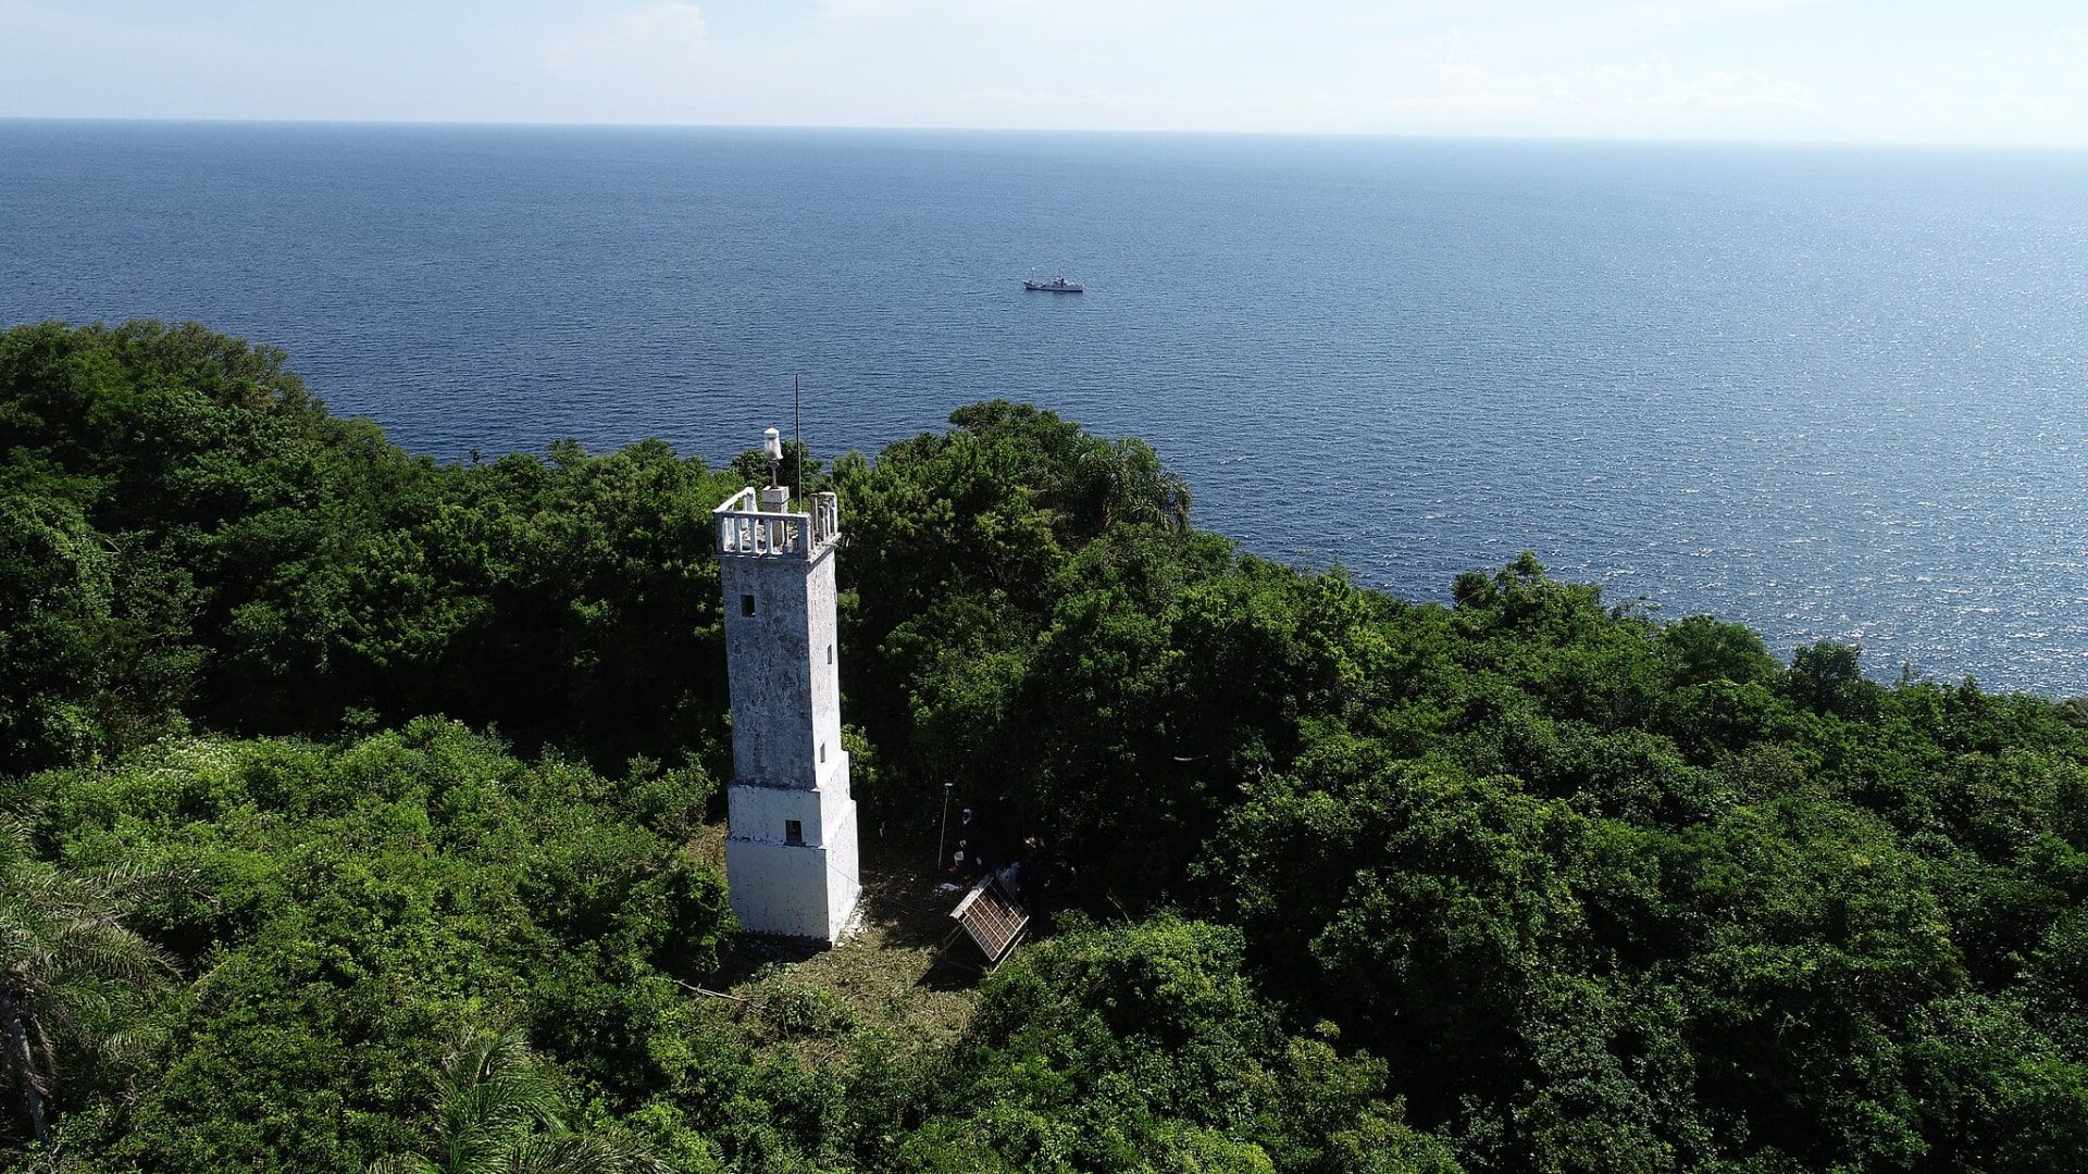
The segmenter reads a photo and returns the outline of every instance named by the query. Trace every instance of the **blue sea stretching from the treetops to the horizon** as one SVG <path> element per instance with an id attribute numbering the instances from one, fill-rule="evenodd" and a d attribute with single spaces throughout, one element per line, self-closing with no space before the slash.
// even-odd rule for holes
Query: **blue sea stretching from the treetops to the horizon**
<path id="1" fill-rule="evenodd" d="M 2088 155 L 0 121 L 0 324 L 138 315 L 443 457 L 1027 399 L 1407 597 L 2088 694 Z"/>

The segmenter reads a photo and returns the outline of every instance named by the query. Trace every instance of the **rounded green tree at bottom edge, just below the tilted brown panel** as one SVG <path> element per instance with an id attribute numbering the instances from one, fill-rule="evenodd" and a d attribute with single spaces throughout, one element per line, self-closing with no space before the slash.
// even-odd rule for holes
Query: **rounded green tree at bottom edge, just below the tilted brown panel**
<path id="1" fill-rule="evenodd" d="M 1284 1036 L 1238 930 L 1075 923 L 986 984 L 898 1168 L 1453 1174 L 1384 1080 Z"/>

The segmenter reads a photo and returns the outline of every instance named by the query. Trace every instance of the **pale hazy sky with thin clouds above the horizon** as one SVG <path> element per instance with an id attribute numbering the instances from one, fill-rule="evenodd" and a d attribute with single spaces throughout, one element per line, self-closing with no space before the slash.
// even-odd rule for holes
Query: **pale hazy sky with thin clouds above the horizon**
<path id="1" fill-rule="evenodd" d="M 2088 0 L 0 0 L 0 117 L 2088 146 Z"/>

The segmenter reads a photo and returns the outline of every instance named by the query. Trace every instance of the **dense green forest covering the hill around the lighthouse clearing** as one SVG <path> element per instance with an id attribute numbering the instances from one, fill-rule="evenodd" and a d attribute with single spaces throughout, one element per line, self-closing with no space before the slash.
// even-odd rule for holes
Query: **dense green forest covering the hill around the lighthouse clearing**
<path id="1" fill-rule="evenodd" d="M 2088 1168 L 2080 704 L 1528 556 L 1407 604 L 967 407 L 806 464 L 867 829 L 1054 859 L 908 1049 L 691 994 L 748 462 L 436 464 L 155 324 L 0 334 L 0 453 L 15 1168 Z"/>

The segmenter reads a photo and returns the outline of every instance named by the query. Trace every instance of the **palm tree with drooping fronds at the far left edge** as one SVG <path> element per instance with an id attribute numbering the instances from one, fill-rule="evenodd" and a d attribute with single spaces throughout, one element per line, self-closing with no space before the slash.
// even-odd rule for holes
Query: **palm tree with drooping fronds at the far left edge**
<path id="1" fill-rule="evenodd" d="M 69 1047 L 119 1040 L 113 1028 L 173 971 L 119 921 L 142 879 L 38 861 L 27 825 L 0 817 L 0 1090 L 38 1143 Z"/>

